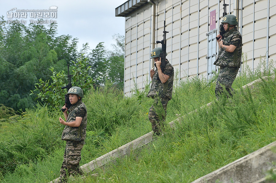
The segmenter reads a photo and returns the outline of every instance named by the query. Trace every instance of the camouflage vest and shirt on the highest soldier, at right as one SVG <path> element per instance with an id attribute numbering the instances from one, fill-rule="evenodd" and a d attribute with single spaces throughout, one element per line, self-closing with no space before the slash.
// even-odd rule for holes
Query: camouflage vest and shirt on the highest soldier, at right
<path id="1" fill-rule="evenodd" d="M 236 46 L 236 49 L 234 52 L 230 53 L 220 48 L 214 65 L 240 68 L 242 36 L 240 35 L 240 32 L 237 31 L 237 27 L 234 27 L 230 31 L 224 33 L 223 45 L 234 45 Z"/>

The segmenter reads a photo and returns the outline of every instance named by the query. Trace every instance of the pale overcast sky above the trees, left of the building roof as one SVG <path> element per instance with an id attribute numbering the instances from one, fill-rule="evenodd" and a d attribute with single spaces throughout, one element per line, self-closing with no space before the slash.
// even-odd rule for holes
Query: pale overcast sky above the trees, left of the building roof
<path id="1" fill-rule="evenodd" d="M 7 12 L 10 16 L 14 17 L 16 14 L 11 15 L 11 12 L 15 13 L 16 9 L 40 10 L 50 9 L 50 6 L 57 6 L 56 17 L 55 14 L 52 13 L 49 14 L 49 18 L 42 19 L 48 21 L 56 20 L 58 25 L 58 36 L 71 35 L 73 38 L 79 38 L 78 50 L 80 50 L 82 44 L 86 42 L 89 43 L 90 49 L 94 49 L 99 42 L 104 42 L 107 49 L 112 49 L 110 44 L 115 44 L 112 35 L 125 35 L 125 17 L 116 17 L 115 8 L 126 1 L 127 0 L 0 0 L 0 16 L 4 16 L 5 20 L 12 20 L 12 18 L 8 18 Z M 13 8 L 16 9 L 10 11 Z M 29 24 L 30 20 L 38 20 L 38 18 L 30 18 L 30 16 L 34 16 L 34 13 L 31 15 L 30 12 L 26 12 L 26 14 L 27 18 L 20 17 L 17 19 L 27 21 L 26 24 Z M 41 16 L 47 16 L 47 14 L 41 13 Z M 47 22 L 45 25 L 48 25 Z"/>

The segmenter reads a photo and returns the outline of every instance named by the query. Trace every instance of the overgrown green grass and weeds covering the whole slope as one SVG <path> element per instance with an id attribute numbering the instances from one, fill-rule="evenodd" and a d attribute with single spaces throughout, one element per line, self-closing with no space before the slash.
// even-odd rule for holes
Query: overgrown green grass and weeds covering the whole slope
<path id="1" fill-rule="evenodd" d="M 183 116 L 175 129 L 167 127 L 163 136 L 140 151 L 94 170 L 86 179 L 69 182 L 191 182 L 275 141 L 275 80 L 269 77 L 252 91 L 241 89 L 261 76 L 274 76 L 275 68 L 270 64 L 268 70 L 260 64 L 253 73 L 245 62 L 243 67 L 245 73 L 233 83 L 233 98 L 222 96 L 215 101 L 217 75 L 210 80 L 176 82 L 166 119 L 169 123 Z M 131 97 L 111 85 L 107 82 L 83 99 L 88 126 L 81 165 L 151 131 L 149 85 L 140 91 L 135 84 Z M 205 106 L 211 101 L 212 105 Z M 38 107 L 0 120 L 1 182 L 42 183 L 59 177 L 65 147 L 60 140 L 64 128 L 58 121 L 60 115 L 58 109 Z"/>

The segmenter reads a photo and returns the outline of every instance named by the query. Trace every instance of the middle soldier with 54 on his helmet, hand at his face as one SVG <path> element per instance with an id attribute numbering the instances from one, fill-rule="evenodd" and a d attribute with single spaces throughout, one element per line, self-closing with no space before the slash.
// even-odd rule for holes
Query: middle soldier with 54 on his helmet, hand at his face
<path id="1" fill-rule="evenodd" d="M 162 133 L 167 115 L 167 104 L 171 100 L 174 82 L 174 68 L 167 59 L 165 68 L 163 71 L 161 70 L 161 58 L 158 60 L 161 52 L 161 48 L 155 48 L 151 51 L 151 58 L 154 59 L 156 69 L 154 70 L 152 68 L 150 71 L 152 82 L 147 95 L 147 97 L 154 99 L 149 109 L 148 119 L 151 122 L 151 127 L 155 135 Z"/>

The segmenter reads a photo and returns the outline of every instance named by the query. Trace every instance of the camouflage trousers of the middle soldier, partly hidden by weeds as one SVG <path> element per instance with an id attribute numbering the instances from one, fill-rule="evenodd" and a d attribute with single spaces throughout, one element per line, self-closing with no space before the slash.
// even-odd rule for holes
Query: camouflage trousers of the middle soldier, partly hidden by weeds
<path id="1" fill-rule="evenodd" d="M 162 133 L 167 115 L 168 98 L 154 98 L 154 103 L 148 112 L 148 119 L 151 122 L 152 131 L 156 135 Z"/>

